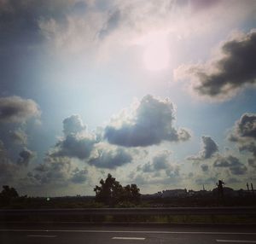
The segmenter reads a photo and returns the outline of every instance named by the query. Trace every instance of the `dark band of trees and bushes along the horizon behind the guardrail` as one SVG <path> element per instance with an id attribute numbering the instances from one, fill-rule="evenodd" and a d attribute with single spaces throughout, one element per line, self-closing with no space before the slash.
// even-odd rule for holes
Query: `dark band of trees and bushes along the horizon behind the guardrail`
<path id="1" fill-rule="evenodd" d="M 102 207 L 211 207 L 256 206 L 256 195 L 226 195 L 218 188 L 201 195 L 177 195 L 161 197 L 142 195 L 136 184 L 122 186 L 112 175 L 101 179 L 94 188 L 95 196 L 30 197 L 19 195 L 16 189 L 4 185 L 0 192 L 2 209 L 41 208 L 102 208 Z M 221 195 L 219 194 L 221 193 Z"/>

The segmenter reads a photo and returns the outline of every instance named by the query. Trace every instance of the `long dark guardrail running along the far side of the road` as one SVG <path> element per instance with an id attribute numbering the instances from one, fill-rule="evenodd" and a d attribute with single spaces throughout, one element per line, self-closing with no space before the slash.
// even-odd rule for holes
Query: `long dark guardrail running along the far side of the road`
<path id="1" fill-rule="evenodd" d="M 250 216 L 256 218 L 256 207 L 170 207 L 170 208 L 83 208 L 83 209 L 8 209 L 0 210 L 0 221 L 61 220 L 104 222 L 114 219 L 147 218 L 150 216 Z"/>

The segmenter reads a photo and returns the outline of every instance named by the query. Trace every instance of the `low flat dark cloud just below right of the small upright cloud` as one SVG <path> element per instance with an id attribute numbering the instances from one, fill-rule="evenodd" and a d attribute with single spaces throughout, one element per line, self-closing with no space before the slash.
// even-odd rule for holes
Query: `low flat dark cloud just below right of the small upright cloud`
<path id="1" fill-rule="evenodd" d="M 214 161 L 213 166 L 229 168 L 230 172 L 234 175 L 243 175 L 247 172 L 247 167 L 232 155 L 227 157 L 218 157 L 218 159 Z"/>

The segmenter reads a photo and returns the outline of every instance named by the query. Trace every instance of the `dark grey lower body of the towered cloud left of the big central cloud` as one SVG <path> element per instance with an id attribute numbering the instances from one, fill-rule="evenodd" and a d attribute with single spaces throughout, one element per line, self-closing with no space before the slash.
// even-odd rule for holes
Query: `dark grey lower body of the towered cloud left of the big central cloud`
<path id="1" fill-rule="evenodd" d="M 73 157 L 79 160 L 87 159 L 96 143 L 96 138 L 90 135 L 79 136 L 70 134 L 55 145 L 51 154 L 55 157 Z"/>

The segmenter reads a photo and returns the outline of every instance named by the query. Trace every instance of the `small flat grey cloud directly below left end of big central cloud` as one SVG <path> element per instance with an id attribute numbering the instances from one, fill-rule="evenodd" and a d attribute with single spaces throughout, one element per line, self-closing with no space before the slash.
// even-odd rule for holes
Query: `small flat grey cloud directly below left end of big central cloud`
<path id="1" fill-rule="evenodd" d="M 101 148 L 92 156 L 88 163 L 98 168 L 114 169 L 118 166 L 131 163 L 132 154 L 125 148 Z"/>

